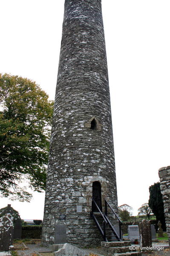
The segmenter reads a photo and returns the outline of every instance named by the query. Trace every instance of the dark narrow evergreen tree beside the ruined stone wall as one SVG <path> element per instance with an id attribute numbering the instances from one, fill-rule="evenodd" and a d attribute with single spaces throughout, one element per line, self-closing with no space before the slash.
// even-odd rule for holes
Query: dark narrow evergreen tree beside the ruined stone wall
<path id="1" fill-rule="evenodd" d="M 157 221 L 161 221 L 163 230 L 166 230 L 165 216 L 164 216 L 164 203 L 162 200 L 162 194 L 160 189 L 160 183 L 154 183 L 149 188 L 150 198 L 149 206 L 152 209 L 153 214 L 156 216 Z"/>

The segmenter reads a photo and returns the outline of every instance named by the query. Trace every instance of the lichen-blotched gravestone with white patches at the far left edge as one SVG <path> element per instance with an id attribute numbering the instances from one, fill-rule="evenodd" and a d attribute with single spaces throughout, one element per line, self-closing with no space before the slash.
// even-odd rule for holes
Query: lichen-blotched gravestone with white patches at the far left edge
<path id="1" fill-rule="evenodd" d="M 6 213 L 0 218 L 0 251 L 8 251 L 13 243 L 13 218 Z"/>

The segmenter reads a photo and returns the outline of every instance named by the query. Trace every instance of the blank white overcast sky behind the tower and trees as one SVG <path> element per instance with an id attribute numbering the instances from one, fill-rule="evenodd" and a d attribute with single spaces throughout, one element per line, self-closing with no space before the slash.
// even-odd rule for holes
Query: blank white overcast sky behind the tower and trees
<path id="1" fill-rule="evenodd" d="M 64 0 L 0 0 L 0 73 L 37 82 L 55 97 Z M 170 1 L 102 0 L 118 205 L 148 202 L 158 169 L 170 165 Z M 44 193 L 31 203 L 0 198 L 24 219 L 42 219 Z"/>

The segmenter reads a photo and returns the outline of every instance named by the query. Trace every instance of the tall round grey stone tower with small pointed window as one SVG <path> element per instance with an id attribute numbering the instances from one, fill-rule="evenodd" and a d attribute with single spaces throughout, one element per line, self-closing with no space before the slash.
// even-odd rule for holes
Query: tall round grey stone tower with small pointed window
<path id="1" fill-rule="evenodd" d="M 95 207 L 92 196 L 102 211 L 106 198 L 117 212 L 101 0 L 65 0 L 43 244 L 54 243 L 55 224 L 61 217 L 67 242 L 89 246 L 102 241 L 90 217 Z"/>

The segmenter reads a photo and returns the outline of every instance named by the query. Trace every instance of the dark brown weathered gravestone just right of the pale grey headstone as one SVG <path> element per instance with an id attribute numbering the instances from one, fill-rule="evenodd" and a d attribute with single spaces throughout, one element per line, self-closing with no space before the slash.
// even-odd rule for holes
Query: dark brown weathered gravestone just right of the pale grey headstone
<path id="1" fill-rule="evenodd" d="M 141 237 L 140 246 L 152 246 L 150 221 L 143 220 L 141 223 L 139 223 L 139 232 Z"/>

